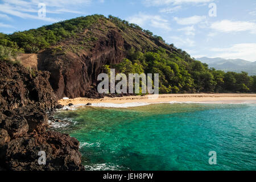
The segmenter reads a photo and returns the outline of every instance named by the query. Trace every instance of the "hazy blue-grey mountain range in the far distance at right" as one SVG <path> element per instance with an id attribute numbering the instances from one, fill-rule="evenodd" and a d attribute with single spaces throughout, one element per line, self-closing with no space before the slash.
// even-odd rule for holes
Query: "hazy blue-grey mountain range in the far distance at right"
<path id="1" fill-rule="evenodd" d="M 249 75 L 256 75 L 256 61 L 246 61 L 242 59 L 223 59 L 220 57 L 209 58 L 200 57 L 196 60 L 209 65 L 209 68 L 215 68 L 225 72 L 247 72 Z"/>

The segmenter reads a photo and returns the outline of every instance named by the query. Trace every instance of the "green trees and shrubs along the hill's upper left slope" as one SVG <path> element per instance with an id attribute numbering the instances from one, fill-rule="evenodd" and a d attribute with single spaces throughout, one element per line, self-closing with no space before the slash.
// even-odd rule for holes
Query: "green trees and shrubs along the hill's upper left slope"
<path id="1" fill-rule="evenodd" d="M 37 29 L 14 32 L 11 35 L 1 34 L 0 44 L 11 48 L 20 48 L 26 53 L 36 53 L 56 44 L 60 40 L 75 36 L 78 32 L 97 23 L 100 18 L 104 18 L 104 16 L 79 17 Z"/>

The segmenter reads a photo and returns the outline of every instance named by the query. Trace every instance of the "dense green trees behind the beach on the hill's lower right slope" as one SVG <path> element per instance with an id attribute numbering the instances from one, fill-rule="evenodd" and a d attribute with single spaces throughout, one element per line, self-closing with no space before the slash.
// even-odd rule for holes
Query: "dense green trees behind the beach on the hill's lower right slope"
<path id="1" fill-rule="evenodd" d="M 159 73 L 160 93 L 256 91 L 256 76 L 209 69 L 200 61 L 185 61 L 179 54 L 167 54 L 163 48 L 146 53 L 131 50 L 122 63 L 105 67 L 107 72 L 110 68 L 127 76 L 129 73 Z"/>

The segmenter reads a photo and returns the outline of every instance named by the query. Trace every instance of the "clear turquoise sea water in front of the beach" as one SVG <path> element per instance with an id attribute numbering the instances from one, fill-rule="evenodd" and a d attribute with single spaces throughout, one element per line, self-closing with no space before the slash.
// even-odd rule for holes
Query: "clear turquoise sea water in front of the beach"
<path id="1" fill-rule="evenodd" d="M 60 111 L 88 170 L 256 170 L 255 104 L 153 104 Z M 210 165 L 216 151 L 217 165 Z"/>

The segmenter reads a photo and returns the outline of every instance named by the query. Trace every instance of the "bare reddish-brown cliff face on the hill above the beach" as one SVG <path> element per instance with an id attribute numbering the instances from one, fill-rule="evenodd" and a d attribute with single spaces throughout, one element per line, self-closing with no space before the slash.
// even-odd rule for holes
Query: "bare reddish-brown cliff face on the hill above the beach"
<path id="1" fill-rule="evenodd" d="M 78 55 L 67 52 L 65 56 L 52 57 L 49 52 L 42 52 L 38 69 L 51 73 L 49 82 L 57 98 L 84 97 L 97 82 L 103 65 L 121 63 L 124 44 L 122 35 L 117 30 L 110 30 L 107 35 L 100 36 L 89 51 L 83 50 Z"/>

